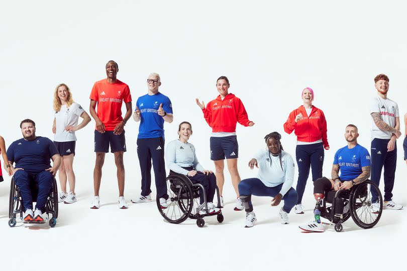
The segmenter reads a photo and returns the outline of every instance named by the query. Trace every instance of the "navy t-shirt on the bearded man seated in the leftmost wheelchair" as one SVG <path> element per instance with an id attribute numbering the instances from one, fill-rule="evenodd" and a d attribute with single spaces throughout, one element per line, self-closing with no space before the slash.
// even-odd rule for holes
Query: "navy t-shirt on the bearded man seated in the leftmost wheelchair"
<path id="1" fill-rule="evenodd" d="M 28 141 L 24 138 L 14 141 L 7 149 L 7 157 L 15 162 L 15 167 L 24 168 L 29 173 L 40 173 L 51 167 L 51 157 L 58 154 L 54 143 L 46 137 L 37 136 Z"/>

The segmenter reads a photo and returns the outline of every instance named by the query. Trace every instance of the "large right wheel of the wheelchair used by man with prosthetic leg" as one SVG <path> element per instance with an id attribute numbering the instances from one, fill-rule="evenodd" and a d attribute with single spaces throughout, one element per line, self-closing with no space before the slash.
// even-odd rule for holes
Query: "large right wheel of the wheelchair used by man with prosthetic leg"
<path id="1" fill-rule="evenodd" d="M 379 211 L 373 210 L 372 194 L 370 190 L 375 190 L 379 195 Z M 363 229 L 372 228 L 379 222 L 383 209 L 383 200 L 379 188 L 370 180 L 366 180 L 358 185 L 350 195 L 350 209 L 353 221 Z"/>

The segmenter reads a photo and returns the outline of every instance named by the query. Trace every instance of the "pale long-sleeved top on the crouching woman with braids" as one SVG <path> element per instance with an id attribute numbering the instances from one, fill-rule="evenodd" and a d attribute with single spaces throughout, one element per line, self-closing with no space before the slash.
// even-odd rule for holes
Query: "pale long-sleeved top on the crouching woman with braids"
<path id="1" fill-rule="evenodd" d="M 257 177 L 266 187 L 276 187 L 284 183 L 280 190 L 280 194 L 284 196 L 294 182 L 295 163 L 291 155 L 282 150 L 281 164 L 280 158 L 272 155 L 268 150 L 260 150 L 254 158 L 259 167 Z"/>

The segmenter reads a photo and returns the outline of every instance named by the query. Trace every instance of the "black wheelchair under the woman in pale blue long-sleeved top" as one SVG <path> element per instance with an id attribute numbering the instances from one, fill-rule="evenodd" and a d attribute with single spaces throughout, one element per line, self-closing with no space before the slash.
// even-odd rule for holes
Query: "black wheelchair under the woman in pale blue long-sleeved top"
<path id="1" fill-rule="evenodd" d="M 223 222 L 222 211 L 216 214 L 202 215 L 199 214 L 200 210 L 208 210 L 207 195 L 204 187 L 199 183 L 192 182 L 187 176 L 170 171 L 170 174 L 166 178 L 167 194 L 169 196 L 167 200 L 168 207 L 161 208 L 160 201 L 157 197 L 157 207 L 160 214 L 170 223 L 179 224 L 184 222 L 188 217 L 196 219 L 196 225 L 198 227 L 204 227 L 205 216 L 217 216 L 218 222 Z M 205 202 L 199 204 L 199 189 L 204 192 Z M 218 197 L 218 208 L 220 206 L 219 188 L 216 187 Z"/>

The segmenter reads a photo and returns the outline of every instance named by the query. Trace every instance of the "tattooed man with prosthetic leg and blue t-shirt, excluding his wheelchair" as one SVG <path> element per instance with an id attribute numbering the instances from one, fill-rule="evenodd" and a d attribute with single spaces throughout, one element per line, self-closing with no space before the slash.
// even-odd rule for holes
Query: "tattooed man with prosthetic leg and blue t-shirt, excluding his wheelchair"
<path id="1" fill-rule="evenodd" d="M 364 182 L 370 176 L 370 154 L 368 150 L 357 143 L 358 128 L 349 124 L 345 129 L 345 139 L 348 145 L 340 148 L 334 157 L 331 179 L 322 177 L 314 182 L 314 197 L 317 204 L 314 209 L 314 220 L 299 226 L 304 231 L 323 232 L 321 223 L 322 200 L 331 190 L 349 190 L 353 186 Z M 341 171 L 341 175 L 339 175 Z M 373 206 L 374 207 L 374 206 Z M 349 211 L 344 207 L 343 213 Z"/>

